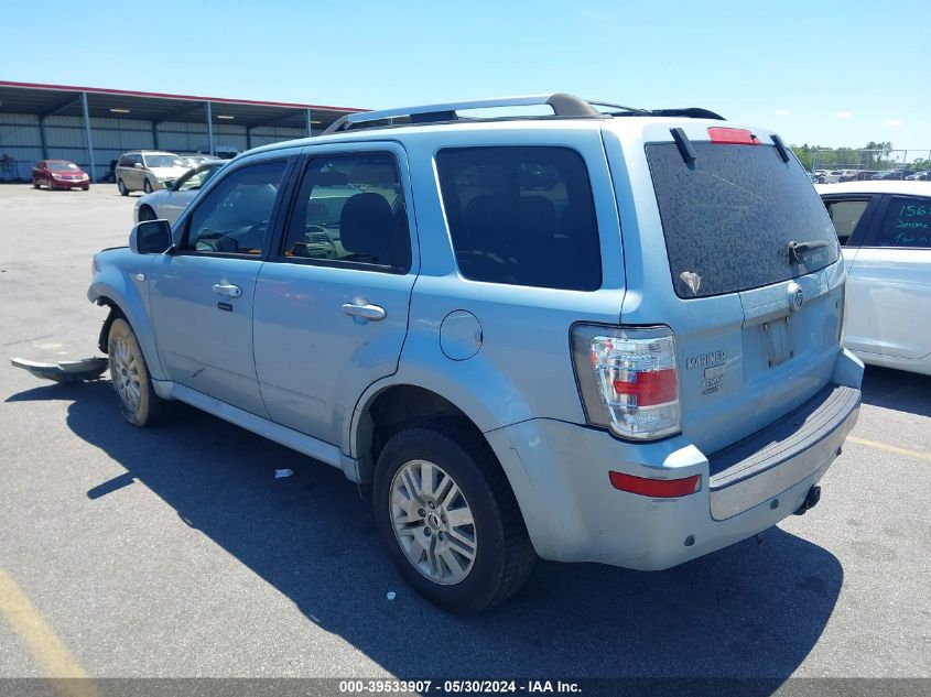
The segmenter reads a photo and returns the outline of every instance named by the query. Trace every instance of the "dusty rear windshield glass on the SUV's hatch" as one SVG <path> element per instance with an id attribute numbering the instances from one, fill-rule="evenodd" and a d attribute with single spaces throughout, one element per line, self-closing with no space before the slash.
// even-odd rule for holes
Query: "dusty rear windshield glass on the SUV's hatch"
<path id="1" fill-rule="evenodd" d="M 801 165 L 769 145 L 647 145 L 673 287 L 680 297 L 735 293 L 823 269 L 837 236 Z M 790 254 L 789 243 L 808 243 Z"/>

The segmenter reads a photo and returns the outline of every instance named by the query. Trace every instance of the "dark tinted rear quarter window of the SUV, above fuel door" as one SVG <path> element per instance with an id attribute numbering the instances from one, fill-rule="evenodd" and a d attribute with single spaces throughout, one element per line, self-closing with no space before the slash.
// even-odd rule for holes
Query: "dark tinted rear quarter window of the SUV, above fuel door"
<path id="1" fill-rule="evenodd" d="M 602 258 L 588 171 L 569 148 L 436 155 L 459 272 L 473 281 L 594 291 Z"/>

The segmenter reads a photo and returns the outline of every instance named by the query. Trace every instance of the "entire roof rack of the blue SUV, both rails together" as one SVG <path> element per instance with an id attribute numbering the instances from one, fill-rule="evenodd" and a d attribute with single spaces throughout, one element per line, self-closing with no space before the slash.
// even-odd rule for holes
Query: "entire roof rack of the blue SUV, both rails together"
<path id="1" fill-rule="evenodd" d="M 422 107 L 403 107 L 400 109 L 382 109 L 379 111 L 360 111 L 358 113 L 347 113 L 334 121 L 323 134 L 338 133 L 340 131 L 348 131 L 354 126 L 364 126 L 366 123 L 374 123 L 377 121 L 390 121 L 397 118 L 409 118 L 410 123 L 437 123 L 441 121 L 458 121 L 459 117 L 456 111 L 464 111 L 467 109 L 492 109 L 501 107 L 532 107 L 532 106 L 549 106 L 553 109 L 554 117 L 562 118 L 607 118 L 613 116 L 680 116 L 691 119 L 716 119 L 724 121 L 724 117 L 708 111 L 707 109 L 700 109 L 697 107 L 688 107 L 683 109 L 637 109 L 635 107 L 623 107 L 605 101 L 585 100 L 574 95 L 566 95 L 565 92 L 555 92 L 552 95 L 531 95 L 528 97 L 504 97 L 500 99 L 476 99 L 473 101 L 455 101 L 440 105 L 425 105 Z M 617 111 L 600 111 L 595 107 L 608 107 Z M 405 123 L 407 126 L 407 123 Z M 370 126 L 369 128 L 377 128 Z"/>

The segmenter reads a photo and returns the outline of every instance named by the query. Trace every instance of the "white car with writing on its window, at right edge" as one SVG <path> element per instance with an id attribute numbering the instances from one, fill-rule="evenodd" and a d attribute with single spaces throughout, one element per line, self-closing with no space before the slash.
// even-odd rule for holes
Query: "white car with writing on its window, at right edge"
<path id="1" fill-rule="evenodd" d="M 845 346 L 865 363 L 931 374 L 931 184 L 815 188 L 844 247 Z"/>

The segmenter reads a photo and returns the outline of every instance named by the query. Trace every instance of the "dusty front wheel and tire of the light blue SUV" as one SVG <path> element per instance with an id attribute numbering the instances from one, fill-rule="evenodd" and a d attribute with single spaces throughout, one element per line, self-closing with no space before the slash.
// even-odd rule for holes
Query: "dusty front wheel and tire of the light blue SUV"
<path id="1" fill-rule="evenodd" d="M 119 400 L 120 412 L 133 426 L 151 426 L 162 416 L 165 400 L 155 394 L 149 368 L 129 323 L 118 317 L 107 338 L 110 380 Z"/>

